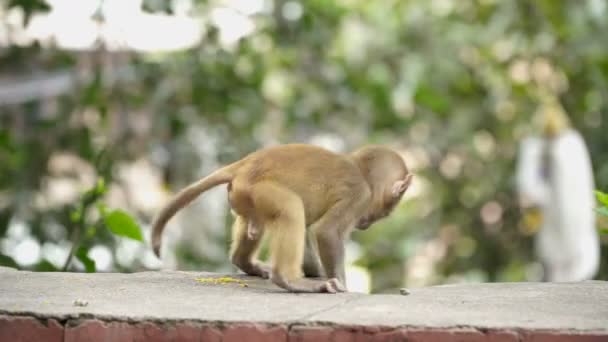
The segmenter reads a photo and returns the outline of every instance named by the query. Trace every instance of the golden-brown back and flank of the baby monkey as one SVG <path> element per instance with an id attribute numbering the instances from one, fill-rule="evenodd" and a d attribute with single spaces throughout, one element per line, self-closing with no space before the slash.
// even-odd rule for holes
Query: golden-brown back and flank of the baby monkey
<path id="1" fill-rule="evenodd" d="M 365 179 L 345 155 L 305 144 L 287 144 L 251 153 L 241 161 L 235 186 L 272 182 L 296 193 L 308 222 L 316 221 L 344 196 L 362 196 Z"/>

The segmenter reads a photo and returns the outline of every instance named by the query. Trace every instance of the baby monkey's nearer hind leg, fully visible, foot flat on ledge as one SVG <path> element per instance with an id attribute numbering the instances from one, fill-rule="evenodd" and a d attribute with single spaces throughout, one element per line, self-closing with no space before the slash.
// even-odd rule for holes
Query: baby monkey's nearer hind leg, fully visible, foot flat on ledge
<path id="1" fill-rule="evenodd" d="M 299 281 L 306 248 L 306 219 L 300 197 L 278 185 L 263 183 L 252 188 L 252 198 L 262 231 L 271 234 L 272 282 L 291 292 L 343 292 L 337 279 L 313 284 Z"/>

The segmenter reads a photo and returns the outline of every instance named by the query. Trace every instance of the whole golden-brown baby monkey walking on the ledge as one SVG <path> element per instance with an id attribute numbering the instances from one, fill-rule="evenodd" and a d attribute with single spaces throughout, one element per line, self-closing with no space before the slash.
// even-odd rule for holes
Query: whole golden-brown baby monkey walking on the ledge
<path id="1" fill-rule="evenodd" d="M 386 147 L 350 154 L 304 144 L 261 149 L 181 190 L 154 221 L 153 249 L 159 256 L 162 231 L 178 210 L 228 184 L 233 264 L 291 292 L 345 292 L 345 239 L 389 215 L 411 181 L 403 158 Z M 256 259 L 265 233 L 270 268 Z M 304 282 L 303 274 L 326 280 Z"/>

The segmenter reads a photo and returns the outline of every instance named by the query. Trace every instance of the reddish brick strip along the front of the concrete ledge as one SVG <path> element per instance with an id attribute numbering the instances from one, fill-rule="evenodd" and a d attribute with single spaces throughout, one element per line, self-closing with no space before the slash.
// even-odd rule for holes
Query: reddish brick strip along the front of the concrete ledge
<path id="1" fill-rule="evenodd" d="M 477 330 L 388 328 L 368 326 L 305 326 L 254 323 L 120 322 L 78 319 L 64 322 L 31 316 L 0 315 L 0 341 L 493 341 L 595 342 L 608 341 L 608 332 L 586 333 L 539 330 Z"/>

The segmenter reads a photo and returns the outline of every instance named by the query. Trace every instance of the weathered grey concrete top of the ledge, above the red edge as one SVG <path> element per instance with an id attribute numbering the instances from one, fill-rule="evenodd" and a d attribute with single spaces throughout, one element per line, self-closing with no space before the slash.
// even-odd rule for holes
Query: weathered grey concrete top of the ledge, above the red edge
<path id="1" fill-rule="evenodd" d="M 5 321 L 2 325 L 0 317 L 0 340 L 3 327 L 17 324 L 6 322 L 16 317 L 46 322 L 54 332 L 57 325 L 68 329 L 83 322 L 86 324 L 82 326 L 92 331 L 105 329 L 101 326 L 124 328 L 120 324 L 184 322 L 212 323 L 225 329 L 233 323 L 247 322 L 258 328 L 260 325 L 255 324 L 262 324 L 275 335 L 288 332 L 290 338 L 294 331 L 299 334 L 303 327 L 312 325 L 325 329 L 323 332 L 312 328 L 318 339 L 330 334 L 329 325 L 334 329 L 331 334 L 340 327 L 351 332 L 352 327 L 359 327 L 359 332 L 399 328 L 407 329 L 410 337 L 419 330 L 450 336 L 494 331 L 513 337 L 498 340 L 517 341 L 529 332 L 548 332 L 583 334 L 608 341 L 608 283 L 601 281 L 436 286 L 411 289 L 408 296 L 402 296 L 290 294 L 268 281 L 235 275 L 231 276 L 244 280 L 248 287 L 195 280 L 209 276 L 219 275 L 33 273 L 0 269 L 0 315 L 4 315 Z M 88 304 L 75 306 L 74 300 Z M 272 327 L 283 330 L 277 333 Z M 242 325 L 241 328 L 245 329 Z M 305 333 L 306 329 L 310 328 L 305 328 Z M 403 337 L 406 334 L 403 331 L 392 333 Z"/>

